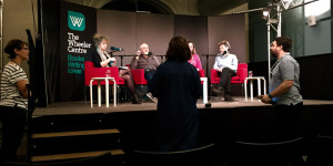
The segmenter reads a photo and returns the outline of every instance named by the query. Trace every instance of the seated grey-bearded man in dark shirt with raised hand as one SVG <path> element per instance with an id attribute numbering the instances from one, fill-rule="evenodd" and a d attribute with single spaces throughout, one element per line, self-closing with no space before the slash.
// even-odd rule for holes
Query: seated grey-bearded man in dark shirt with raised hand
<path id="1" fill-rule="evenodd" d="M 137 52 L 137 56 L 133 58 L 131 62 L 131 69 L 143 69 L 144 70 L 144 79 L 150 84 L 157 68 L 160 65 L 160 61 L 157 56 L 153 55 L 152 52 L 149 51 L 149 45 L 147 43 L 142 43 L 140 45 L 140 50 Z M 147 93 L 147 96 L 152 100 L 152 102 L 157 102 L 151 93 Z"/>

